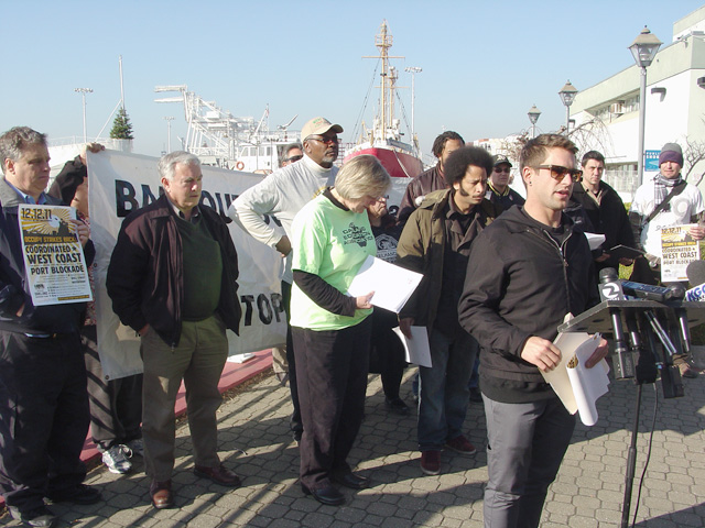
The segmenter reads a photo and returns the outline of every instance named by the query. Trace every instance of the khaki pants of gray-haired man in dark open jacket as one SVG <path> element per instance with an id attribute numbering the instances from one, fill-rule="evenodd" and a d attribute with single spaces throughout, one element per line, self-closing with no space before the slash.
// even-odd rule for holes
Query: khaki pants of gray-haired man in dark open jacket
<path id="1" fill-rule="evenodd" d="M 178 346 L 172 350 L 153 329 L 142 338 L 144 361 L 142 437 L 148 476 L 172 477 L 176 435 L 174 404 L 182 380 L 186 386 L 188 428 L 197 465 L 216 468 L 216 410 L 223 402 L 218 382 L 228 356 L 225 324 L 217 317 L 183 321 Z"/>

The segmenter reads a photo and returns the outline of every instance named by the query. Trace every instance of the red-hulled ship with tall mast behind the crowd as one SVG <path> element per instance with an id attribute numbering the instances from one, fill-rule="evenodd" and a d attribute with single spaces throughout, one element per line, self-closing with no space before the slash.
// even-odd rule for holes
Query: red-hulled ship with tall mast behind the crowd
<path id="1" fill-rule="evenodd" d="M 382 21 L 380 32 L 375 38 L 375 45 L 379 55 L 366 58 L 379 58 L 381 61 L 380 75 L 380 101 L 379 111 L 375 117 L 372 127 L 361 124 L 361 132 L 357 143 L 346 148 L 344 163 L 361 154 L 371 154 L 377 157 L 390 176 L 397 178 L 413 178 L 423 172 L 423 163 L 419 155 L 419 144 L 413 131 L 412 143 L 403 141 L 401 120 L 394 116 L 395 101 L 398 99 L 397 79 L 398 70 L 390 65 L 389 50 L 392 47 L 392 35 L 389 33 L 387 21 Z"/>

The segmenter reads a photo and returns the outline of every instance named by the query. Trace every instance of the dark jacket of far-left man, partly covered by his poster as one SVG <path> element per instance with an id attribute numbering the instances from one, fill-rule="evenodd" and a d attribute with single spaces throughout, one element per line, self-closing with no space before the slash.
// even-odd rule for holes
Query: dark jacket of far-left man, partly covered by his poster
<path id="1" fill-rule="evenodd" d="M 78 331 L 86 309 L 85 302 L 35 307 L 25 280 L 24 257 L 18 220 L 20 196 L 4 178 L 0 178 L 0 329 L 26 333 L 72 333 Z M 58 199 L 46 197 L 46 205 L 61 206 Z M 96 255 L 93 242 L 84 246 L 86 264 Z M 22 317 L 17 312 L 24 304 Z"/>

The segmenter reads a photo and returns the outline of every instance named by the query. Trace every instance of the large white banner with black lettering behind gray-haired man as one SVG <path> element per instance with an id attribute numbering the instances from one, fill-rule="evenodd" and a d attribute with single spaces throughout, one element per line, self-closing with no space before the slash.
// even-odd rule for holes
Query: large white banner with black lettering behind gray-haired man
<path id="1" fill-rule="evenodd" d="M 139 338 L 120 324 L 105 288 L 106 273 L 122 220 L 130 212 L 156 200 L 160 177 L 155 157 L 117 151 L 87 153 L 90 238 L 96 245 L 96 314 L 102 370 L 108 378 L 142 372 Z M 238 296 L 242 306 L 240 336 L 228 331 L 229 354 L 240 354 L 283 344 L 286 317 L 281 297 L 282 258 L 279 253 L 227 218 L 230 204 L 262 176 L 203 166 L 202 205 L 217 210 L 228 222 L 238 252 Z M 271 218 L 269 221 L 273 221 Z"/>

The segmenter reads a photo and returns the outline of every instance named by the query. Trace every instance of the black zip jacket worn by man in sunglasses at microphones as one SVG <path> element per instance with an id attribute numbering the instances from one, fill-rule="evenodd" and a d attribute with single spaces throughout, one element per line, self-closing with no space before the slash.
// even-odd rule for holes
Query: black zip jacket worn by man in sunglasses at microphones
<path id="1" fill-rule="evenodd" d="M 558 246 L 523 208 L 503 212 L 473 244 L 458 305 L 460 326 L 482 349 L 481 376 L 534 384 L 543 397 L 553 391 L 521 359 L 524 343 L 532 336 L 553 341 L 566 314 L 577 316 L 599 301 L 587 240 L 565 215 L 562 223 L 570 234 Z"/>

